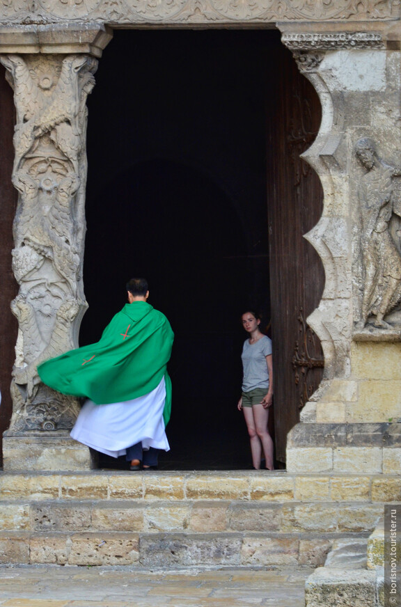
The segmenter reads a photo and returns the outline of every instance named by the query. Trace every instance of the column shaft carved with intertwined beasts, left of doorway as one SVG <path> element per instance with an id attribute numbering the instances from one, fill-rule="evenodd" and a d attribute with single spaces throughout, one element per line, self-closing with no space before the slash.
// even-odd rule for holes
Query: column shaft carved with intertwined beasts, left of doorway
<path id="1" fill-rule="evenodd" d="M 13 184 L 19 191 L 13 271 L 19 322 L 11 430 L 68 428 L 77 399 L 40 384 L 37 365 L 77 347 L 82 284 L 86 97 L 97 61 L 85 55 L 1 56 L 14 89 Z"/>

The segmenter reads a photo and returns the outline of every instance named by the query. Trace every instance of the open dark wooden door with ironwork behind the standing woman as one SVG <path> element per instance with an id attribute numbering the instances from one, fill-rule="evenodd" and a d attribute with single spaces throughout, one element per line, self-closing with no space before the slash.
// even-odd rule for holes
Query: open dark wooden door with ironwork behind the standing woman
<path id="1" fill-rule="evenodd" d="M 301 152 L 321 120 L 317 93 L 283 45 L 276 51 L 274 90 L 267 100 L 267 208 L 274 357 L 276 459 L 323 372 L 320 341 L 306 324 L 324 287 L 319 256 L 303 235 L 322 214 L 320 180 Z"/>

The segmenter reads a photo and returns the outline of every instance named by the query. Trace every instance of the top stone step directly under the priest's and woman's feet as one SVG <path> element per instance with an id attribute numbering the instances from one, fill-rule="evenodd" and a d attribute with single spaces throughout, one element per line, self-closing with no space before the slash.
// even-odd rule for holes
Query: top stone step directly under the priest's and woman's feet
<path id="1" fill-rule="evenodd" d="M 6 500 L 401 501 L 400 475 L 285 471 L 0 473 Z"/>

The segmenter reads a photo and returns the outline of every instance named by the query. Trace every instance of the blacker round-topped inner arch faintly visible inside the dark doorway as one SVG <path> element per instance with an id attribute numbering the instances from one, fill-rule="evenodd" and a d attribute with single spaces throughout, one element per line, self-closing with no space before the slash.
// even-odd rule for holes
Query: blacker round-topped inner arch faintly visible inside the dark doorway
<path id="1" fill-rule="evenodd" d="M 150 301 L 175 331 L 171 453 L 161 465 L 244 467 L 246 436 L 235 409 L 238 329 L 254 278 L 235 208 L 207 175 L 161 159 L 120 174 L 104 189 L 97 211 L 111 198 L 118 221 L 100 214 L 96 230 L 88 231 L 86 267 L 97 271 L 86 272 L 86 288 L 93 292 L 98 285 L 102 306 L 95 296 L 99 309 L 86 316 L 82 338 L 97 340 L 107 313 L 122 306 L 127 276 L 148 277 Z"/>

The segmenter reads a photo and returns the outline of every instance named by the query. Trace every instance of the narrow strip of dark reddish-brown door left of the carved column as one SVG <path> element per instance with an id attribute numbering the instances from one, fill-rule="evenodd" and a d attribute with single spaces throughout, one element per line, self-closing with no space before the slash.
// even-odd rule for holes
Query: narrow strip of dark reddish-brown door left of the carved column
<path id="1" fill-rule="evenodd" d="M 13 90 L 6 81 L 5 72 L 0 65 L 0 455 L 3 432 L 10 424 L 13 409 L 10 383 L 17 340 L 17 320 L 10 310 L 10 302 L 17 294 L 11 267 L 13 219 L 17 205 L 17 190 L 11 182 L 15 109 Z"/>

